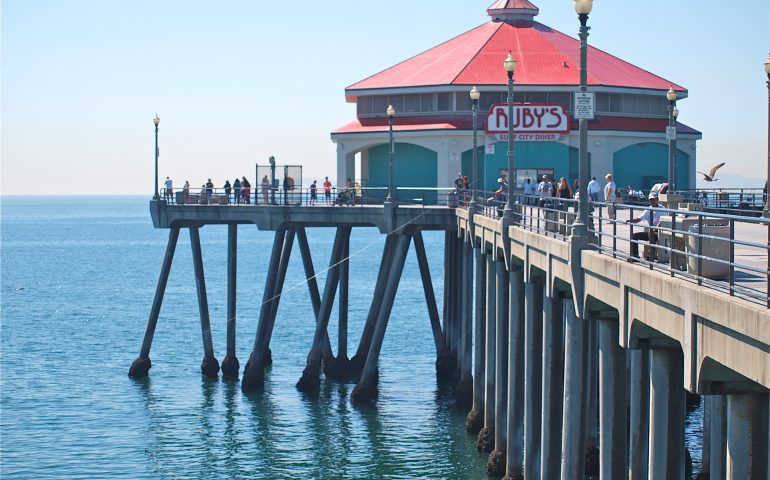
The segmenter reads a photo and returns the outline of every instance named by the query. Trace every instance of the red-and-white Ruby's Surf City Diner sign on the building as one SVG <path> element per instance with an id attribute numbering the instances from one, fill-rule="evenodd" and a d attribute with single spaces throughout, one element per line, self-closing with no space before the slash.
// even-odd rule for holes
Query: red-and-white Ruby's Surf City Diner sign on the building
<path id="1" fill-rule="evenodd" d="M 508 105 L 492 105 L 487 114 L 487 135 L 498 140 L 507 139 L 508 121 Z M 562 134 L 569 132 L 569 119 L 563 105 L 514 104 L 513 131 L 516 140 L 559 140 Z"/>

